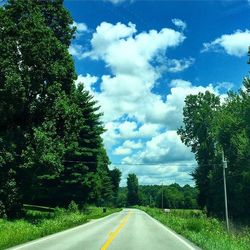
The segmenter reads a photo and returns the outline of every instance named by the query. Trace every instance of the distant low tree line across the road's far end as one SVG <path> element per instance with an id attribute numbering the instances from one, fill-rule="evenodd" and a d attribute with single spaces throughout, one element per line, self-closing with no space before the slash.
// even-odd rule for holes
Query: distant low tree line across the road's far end
<path id="1" fill-rule="evenodd" d="M 127 187 L 120 187 L 117 205 L 150 206 L 158 208 L 197 209 L 198 190 L 189 185 L 139 185 L 135 174 L 127 177 Z"/>

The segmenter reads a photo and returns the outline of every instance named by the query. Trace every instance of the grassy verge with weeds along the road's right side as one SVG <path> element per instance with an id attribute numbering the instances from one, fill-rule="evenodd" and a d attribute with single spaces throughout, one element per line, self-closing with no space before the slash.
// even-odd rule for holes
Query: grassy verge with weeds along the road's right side
<path id="1" fill-rule="evenodd" d="M 137 207 L 204 250 L 250 250 L 250 228 L 228 234 L 223 222 L 199 210 L 171 210 Z"/>

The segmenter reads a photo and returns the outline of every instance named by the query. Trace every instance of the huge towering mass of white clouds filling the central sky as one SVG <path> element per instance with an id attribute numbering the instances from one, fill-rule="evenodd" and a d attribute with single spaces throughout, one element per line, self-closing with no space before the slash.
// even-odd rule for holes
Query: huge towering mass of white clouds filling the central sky
<path id="1" fill-rule="evenodd" d="M 194 86 L 183 79 L 161 79 L 163 71 L 172 75 L 194 63 L 191 57 L 167 57 L 168 50 L 184 40 L 183 32 L 174 29 L 138 32 L 133 23 L 102 22 L 90 41 L 91 50 L 79 54 L 79 58 L 104 62 L 110 71 L 99 78 L 80 75 L 77 82 L 85 83 L 104 112 L 103 140 L 111 157 L 123 158 L 127 164 L 119 166 L 123 178 L 133 171 L 143 184 L 158 183 L 163 177 L 191 183 L 187 171 L 195 164 L 194 157 L 176 134 L 182 124 L 184 99 L 188 94 L 216 90 L 212 85 Z M 165 68 L 161 68 L 163 64 Z M 165 93 L 169 88 L 168 94 L 154 92 L 160 80 Z M 100 84 L 99 91 L 95 84 Z"/>

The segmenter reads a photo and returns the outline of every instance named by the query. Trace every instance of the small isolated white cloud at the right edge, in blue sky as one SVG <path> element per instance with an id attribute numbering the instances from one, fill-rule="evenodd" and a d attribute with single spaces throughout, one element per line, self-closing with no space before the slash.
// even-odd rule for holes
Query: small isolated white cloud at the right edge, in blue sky
<path id="1" fill-rule="evenodd" d="M 202 52 L 225 51 L 228 55 L 246 56 L 250 45 L 250 31 L 237 30 L 233 34 L 225 34 L 210 43 L 203 43 Z"/>

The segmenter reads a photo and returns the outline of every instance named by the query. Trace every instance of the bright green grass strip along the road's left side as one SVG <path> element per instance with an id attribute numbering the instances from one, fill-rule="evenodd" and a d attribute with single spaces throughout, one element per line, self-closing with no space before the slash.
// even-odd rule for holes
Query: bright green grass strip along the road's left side
<path id="1" fill-rule="evenodd" d="M 88 207 L 84 211 L 55 209 L 54 212 L 27 210 L 23 219 L 0 219 L 0 249 L 6 249 L 34 239 L 60 232 L 92 219 L 101 218 L 121 209 Z"/>

